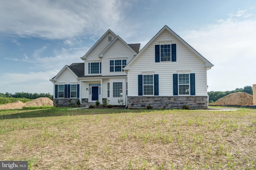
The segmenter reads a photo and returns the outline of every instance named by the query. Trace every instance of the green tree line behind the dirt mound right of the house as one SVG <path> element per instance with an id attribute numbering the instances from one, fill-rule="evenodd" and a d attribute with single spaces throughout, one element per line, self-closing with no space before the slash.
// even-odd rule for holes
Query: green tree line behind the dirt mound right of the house
<path id="1" fill-rule="evenodd" d="M 230 93 L 236 93 L 236 92 L 245 92 L 248 94 L 252 94 L 252 86 L 245 86 L 244 88 L 236 88 L 235 90 L 232 91 L 225 91 L 225 92 L 220 92 L 220 91 L 210 91 L 208 92 L 208 96 L 209 96 L 209 103 L 213 103 L 216 102 L 216 100 L 227 96 Z"/>

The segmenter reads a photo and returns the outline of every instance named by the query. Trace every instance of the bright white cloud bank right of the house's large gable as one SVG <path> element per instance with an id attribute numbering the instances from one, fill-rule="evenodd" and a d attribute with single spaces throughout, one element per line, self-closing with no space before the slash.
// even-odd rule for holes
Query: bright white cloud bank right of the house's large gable
<path id="1" fill-rule="evenodd" d="M 214 64 L 208 70 L 208 91 L 234 90 L 256 83 L 250 76 L 256 75 L 256 20 L 242 20 L 245 13 L 240 11 L 215 25 L 184 33 L 184 40 Z"/>

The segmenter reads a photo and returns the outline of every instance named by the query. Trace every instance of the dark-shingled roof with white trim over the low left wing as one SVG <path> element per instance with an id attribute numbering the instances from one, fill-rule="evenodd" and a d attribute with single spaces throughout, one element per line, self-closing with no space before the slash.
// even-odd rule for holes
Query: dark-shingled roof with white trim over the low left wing
<path id="1" fill-rule="evenodd" d="M 84 63 L 72 63 L 70 66 L 64 66 L 56 76 L 50 79 L 50 81 L 55 81 L 65 69 L 70 70 L 76 78 L 84 76 Z"/>

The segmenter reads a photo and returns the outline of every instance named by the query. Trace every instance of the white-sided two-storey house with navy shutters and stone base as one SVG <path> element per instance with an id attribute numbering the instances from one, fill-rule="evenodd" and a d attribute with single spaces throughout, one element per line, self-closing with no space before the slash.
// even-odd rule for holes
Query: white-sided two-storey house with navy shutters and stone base
<path id="1" fill-rule="evenodd" d="M 128 108 L 208 107 L 207 70 L 213 64 L 164 26 L 140 50 L 110 29 L 81 59 L 64 66 L 54 83 L 54 105 L 108 100 Z"/>

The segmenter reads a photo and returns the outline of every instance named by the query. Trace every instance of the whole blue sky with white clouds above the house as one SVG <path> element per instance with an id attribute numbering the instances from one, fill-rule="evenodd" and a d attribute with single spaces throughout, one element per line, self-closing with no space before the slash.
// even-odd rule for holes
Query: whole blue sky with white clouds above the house
<path id="1" fill-rule="evenodd" d="M 53 94 L 53 78 L 111 29 L 144 47 L 167 25 L 214 66 L 208 91 L 256 84 L 255 0 L 0 0 L 0 93 Z"/>

